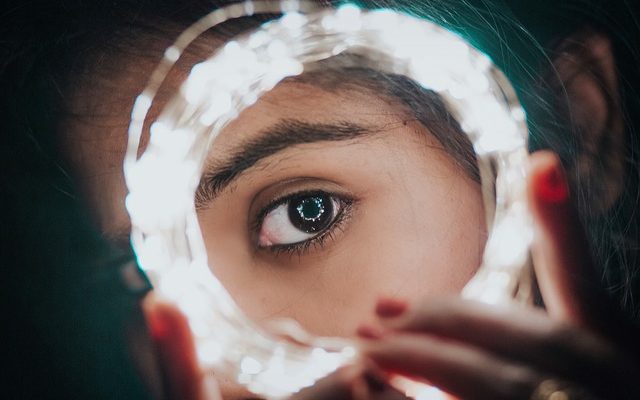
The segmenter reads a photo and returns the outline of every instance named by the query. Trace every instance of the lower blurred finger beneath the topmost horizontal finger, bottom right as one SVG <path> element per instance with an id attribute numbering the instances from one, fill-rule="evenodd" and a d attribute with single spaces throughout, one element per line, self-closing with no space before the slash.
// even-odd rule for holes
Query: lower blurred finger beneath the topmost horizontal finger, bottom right
<path id="1" fill-rule="evenodd" d="M 365 341 L 362 351 L 391 373 L 427 381 L 466 400 L 526 399 L 542 381 L 529 367 L 431 335 L 389 335 Z"/>

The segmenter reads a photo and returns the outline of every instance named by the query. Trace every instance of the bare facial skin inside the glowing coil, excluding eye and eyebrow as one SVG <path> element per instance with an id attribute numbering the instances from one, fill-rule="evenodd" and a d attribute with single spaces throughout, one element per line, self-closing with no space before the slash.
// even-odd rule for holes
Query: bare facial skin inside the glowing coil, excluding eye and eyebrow
<path id="1" fill-rule="evenodd" d="M 211 265 L 250 317 L 293 317 L 317 334 L 352 335 L 379 296 L 418 299 L 464 286 L 485 241 L 479 185 L 428 129 L 370 93 L 285 83 L 222 133 L 210 164 L 284 116 L 348 121 L 375 132 L 286 148 L 203 206 L 199 220 Z M 305 251 L 258 248 L 247 228 L 252 214 L 301 190 L 348 195 L 354 199 L 349 218 Z"/>

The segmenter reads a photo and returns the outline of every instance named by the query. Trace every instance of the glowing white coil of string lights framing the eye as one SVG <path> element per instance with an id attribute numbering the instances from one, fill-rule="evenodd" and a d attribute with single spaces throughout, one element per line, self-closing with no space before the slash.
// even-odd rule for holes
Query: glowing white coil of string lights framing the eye
<path id="1" fill-rule="evenodd" d="M 282 17 L 229 41 L 195 65 L 151 124 L 149 142 L 138 157 L 155 94 L 183 50 L 222 22 L 259 13 Z M 389 9 L 248 1 L 215 10 L 165 51 L 136 98 L 124 162 L 126 207 L 138 262 L 156 291 L 186 315 L 203 368 L 269 398 L 285 397 L 354 362 L 357 346 L 347 339 L 312 337 L 294 324 L 280 325 L 295 338 L 291 341 L 252 323 L 209 267 L 194 193 L 211 143 L 230 121 L 282 79 L 346 51 L 438 93 L 473 143 L 490 235 L 482 265 L 462 296 L 512 301 L 527 275 L 532 229 L 525 197 L 525 112 L 485 54 L 437 24 Z M 395 384 L 414 398 L 441 398 L 435 388 L 405 379 Z"/>

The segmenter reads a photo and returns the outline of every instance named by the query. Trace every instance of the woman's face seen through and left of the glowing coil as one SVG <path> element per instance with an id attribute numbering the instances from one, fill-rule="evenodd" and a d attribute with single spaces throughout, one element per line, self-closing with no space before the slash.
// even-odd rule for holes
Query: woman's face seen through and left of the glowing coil
<path id="1" fill-rule="evenodd" d="M 126 126 L 153 65 L 133 58 L 79 85 L 70 106 L 89 117 L 63 121 L 107 236 L 128 231 Z M 240 307 L 321 335 L 352 335 L 380 296 L 459 292 L 486 239 L 478 183 L 399 99 L 353 82 L 288 80 L 260 98 L 215 140 L 196 205 L 210 265 Z"/>

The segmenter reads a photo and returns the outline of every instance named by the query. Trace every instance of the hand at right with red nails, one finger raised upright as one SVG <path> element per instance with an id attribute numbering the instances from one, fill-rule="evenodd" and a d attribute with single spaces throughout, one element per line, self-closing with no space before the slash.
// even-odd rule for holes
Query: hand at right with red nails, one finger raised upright
<path id="1" fill-rule="evenodd" d="M 531 157 L 533 256 L 547 312 L 460 299 L 409 307 L 382 300 L 380 326 L 362 326 L 384 370 L 463 399 L 529 399 L 548 379 L 603 399 L 640 398 L 640 332 L 600 289 L 558 158 Z"/>

